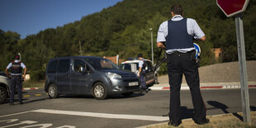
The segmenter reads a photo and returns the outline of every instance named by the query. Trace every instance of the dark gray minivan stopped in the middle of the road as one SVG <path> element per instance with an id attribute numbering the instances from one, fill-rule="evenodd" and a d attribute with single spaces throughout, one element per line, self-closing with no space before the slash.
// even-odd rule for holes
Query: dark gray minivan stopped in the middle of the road
<path id="1" fill-rule="evenodd" d="M 91 94 L 105 99 L 112 94 L 130 96 L 140 90 L 135 73 L 121 70 L 108 59 L 71 56 L 50 59 L 45 72 L 45 92 L 59 94 Z"/>

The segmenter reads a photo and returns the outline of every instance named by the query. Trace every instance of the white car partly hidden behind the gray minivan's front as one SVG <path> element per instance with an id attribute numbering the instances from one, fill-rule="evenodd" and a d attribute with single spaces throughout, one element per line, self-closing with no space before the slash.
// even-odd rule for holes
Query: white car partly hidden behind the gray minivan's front
<path id="1" fill-rule="evenodd" d="M 130 70 L 139 76 L 139 59 L 126 60 L 120 64 L 121 69 Z M 148 87 L 158 83 L 158 73 L 154 71 L 152 61 L 144 59 L 145 63 L 145 81 Z"/>

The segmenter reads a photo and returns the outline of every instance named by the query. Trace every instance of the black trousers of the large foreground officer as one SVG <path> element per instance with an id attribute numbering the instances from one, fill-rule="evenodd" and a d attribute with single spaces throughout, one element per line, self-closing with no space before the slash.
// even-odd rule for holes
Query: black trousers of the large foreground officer
<path id="1" fill-rule="evenodd" d="M 192 59 L 192 52 L 168 55 L 168 78 L 170 84 L 169 119 L 174 123 L 181 121 L 180 88 L 185 75 L 190 88 L 194 107 L 193 120 L 206 119 L 206 107 L 201 97 L 199 73 L 196 62 Z"/>

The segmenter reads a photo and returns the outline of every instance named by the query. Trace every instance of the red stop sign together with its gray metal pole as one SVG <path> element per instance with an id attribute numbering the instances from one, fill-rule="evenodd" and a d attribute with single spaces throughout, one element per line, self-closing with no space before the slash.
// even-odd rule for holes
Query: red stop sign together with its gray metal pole
<path id="1" fill-rule="evenodd" d="M 247 80 L 247 68 L 244 46 L 244 26 L 242 12 L 245 11 L 249 0 L 216 0 L 217 5 L 227 17 L 235 16 L 236 39 L 239 57 L 240 86 L 242 97 L 242 109 L 244 114 L 244 123 L 251 123 L 249 115 L 249 91 Z"/>

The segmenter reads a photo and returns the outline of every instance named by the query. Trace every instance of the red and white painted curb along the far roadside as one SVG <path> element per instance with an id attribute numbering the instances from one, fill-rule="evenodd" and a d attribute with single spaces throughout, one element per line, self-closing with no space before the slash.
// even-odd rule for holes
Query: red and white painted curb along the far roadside
<path id="1" fill-rule="evenodd" d="M 231 89 L 241 88 L 239 85 L 224 85 L 224 86 L 201 86 L 200 89 Z M 256 88 L 256 85 L 248 85 L 248 88 Z M 151 90 L 169 90 L 169 87 L 150 87 Z M 181 90 L 189 90 L 188 86 L 182 86 Z"/>

